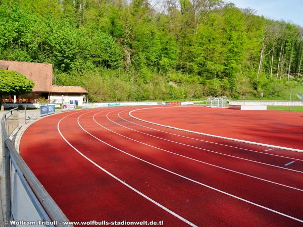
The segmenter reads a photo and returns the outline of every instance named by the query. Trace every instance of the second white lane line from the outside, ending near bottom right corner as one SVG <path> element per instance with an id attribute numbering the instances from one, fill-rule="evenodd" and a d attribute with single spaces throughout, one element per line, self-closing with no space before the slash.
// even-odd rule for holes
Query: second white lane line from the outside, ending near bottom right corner
<path id="1" fill-rule="evenodd" d="M 87 113 L 83 113 L 83 115 L 86 115 L 86 114 L 87 114 Z M 177 173 L 175 173 L 175 172 L 173 172 L 173 171 L 170 171 L 170 170 L 168 170 L 168 169 L 166 169 L 166 168 L 163 168 L 163 167 L 161 167 L 161 166 L 159 166 L 159 165 L 153 164 L 153 163 L 148 162 L 148 161 L 146 161 L 146 160 L 144 160 L 144 159 L 141 159 L 141 158 L 139 158 L 139 157 L 137 157 L 137 156 L 134 156 L 134 155 L 132 155 L 132 154 L 129 154 L 129 153 L 127 153 L 127 152 L 125 152 L 125 151 L 123 151 L 123 150 L 117 148 L 117 147 L 114 147 L 113 145 L 111 145 L 111 144 L 109 144 L 109 143 L 107 143 L 107 142 L 105 142 L 105 141 L 103 141 L 103 140 L 101 140 L 101 139 L 95 137 L 94 135 L 92 135 L 91 133 L 89 133 L 88 131 L 86 131 L 86 130 L 80 125 L 79 119 L 80 119 L 80 117 L 82 117 L 83 115 L 79 116 L 79 118 L 78 118 L 78 125 L 80 126 L 80 128 L 81 128 L 84 132 L 86 132 L 88 135 L 92 136 L 92 137 L 95 138 L 96 140 L 98 140 L 98 141 L 100 141 L 100 142 L 102 142 L 102 143 L 104 143 L 104 144 L 106 144 L 106 145 L 108 145 L 108 146 L 110 146 L 110 147 L 112 147 L 112 148 L 114 148 L 114 149 L 116 149 L 116 150 L 118 150 L 118 151 L 120 151 L 120 152 L 126 154 L 126 155 L 129 155 L 129 156 L 131 156 L 131 157 L 133 157 L 133 158 L 136 158 L 136 159 L 138 159 L 138 160 L 140 160 L 140 161 L 143 161 L 143 162 L 145 162 L 145 163 L 147 163 L 147 164 L 153 165 L 153 166 L 155 166 L 155 167 L 157 167 L 157 168 L 162 169 L 163 171 L 166 171 L 166 172 L 168 172 L 168 173 L 171 173 L 171 174 L 173 174 L 173 175 L 176 175 L 176 176 L 178 176 L 178 177 L 180 177 L 180 178 L 186 179 L 186 180 L 191 181 L 191 182 L 193 182 L 193 183 L 196 183 L 196 184 L 198 184 L 198 185 L 202 185 L 202 186 L 204 186 L 204 187 L 206 187 L 206 188 L 209 188 L 209 189 L 212 189 L 212 190 L 214 190 L 214 191 L 220 192 L 220 193 L 222 193 L 222 194 L 228 195 L 228 196 L 233 197 L 233 198 L 235 198 L 235 199 L 239 199 L 239 200 L 241 200 L 241 201 L 243 201 L 243 202 L 246 202 L 246 203 L 255 205 L 255 206 L 257 206 L 257 207 L 260 207 L 260 208 L 269 210 L 269 211 L 271 211 L 271 212 L 280 214 L 280 215 L 282 215 L 282 216 L 284 216 L 284 217 L 288 217 L 288 218 L 291 218 L 291 219 L 293 219 L 293 220 L 296 220 L 296 221 L 299 221 L 299 222 L 302 222 L 302 223 L 303 223 L 303 220 L 301 220 L 301 219 L 298 219 L 298 218 L 296 218 L 296 217 L 292 217 L 292 216 L 290 216 L 290 215 L 287 215 L 287 214 L 285 214 L 285 213 L 279 212 L 279 211 L 277 211 L 277 210 L 273 210 L 273 209 L 268 208 L 268 207 L 266 207 L 266 206 L 262 206 L 262 205 L 260 205 L 260 204 L 257 204 L 257 203 L 251 202 L 251 201 L 249 201 L 249 200 L 243 199 L 243 198 L 241 198 L 241 197 L 235 196 L 235 195 L 233 195 L 233 194 L 230 194 L 230 193 L 228 193 L 228 192 L 221 191 L 221 190 L 219 190 L 219 189 L 217 189 L 217 188 L 214 188 L 214 187 L 212 187 L 212 186 L 209 186 L 209 185 L 203 184 L 203 183 L 201 183 L 201 182 L 195 181 L 195 180 L 193 180 L 193 179 L 184 177 L 184 176 L 182 176 L 182 175 L 180 175 L 180 174 L 177 174 Z"/>

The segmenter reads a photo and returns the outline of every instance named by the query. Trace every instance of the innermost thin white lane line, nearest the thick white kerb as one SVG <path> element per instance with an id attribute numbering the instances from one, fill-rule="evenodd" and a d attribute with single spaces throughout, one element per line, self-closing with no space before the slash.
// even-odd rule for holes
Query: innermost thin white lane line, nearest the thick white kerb
<path id="1" fill-rule="evenodd" d="M 121 112 L 124 112 L 124 111 L 128 111 L 128 110 L 123 110 L 123 111 L 121 111 Z M 208 141 L 208 140 L 196 139 L 196 138 L 192 138 L 192 137 L 188 137 L 188 136 L 183 136 L 183 135 L 179 135 L 179 134 L 175 134 L 175 133 L 170 133 L 170 132 L 162 131 L 162 130 L 159 130 L 159 129 L 150 128 L 150 127 L 147 127 L 147 126 L 144 126 L 144 125 L 140 125 L 140 124 L 137 124 L 137 123 L 134 123 L 134 122 L 131 122 L 131 121 L 128 121 L 128 120 L 122 118 L 122 117 L 120 116 L 120 113 L 121 113 L 121 112 L 118 113 L 119 118 L 121 118 L 121 119 L 123 119 L 124 121 L 127 121 L 127 122 L 129 122 L 129 123 L 131 123 L 131 124 L 138 125 L 138 126 L 141 126 L 141 127 L 147 128 L 147 129 L 152 129 L 152 130 L 155 130 L 155 131 L 164 132 L 164 133 L 171 134 L 171 135 L 174 135 L 174 136 L 179 136 L 179 137 L 188 138 L 188 139 L 192 139 L 192 140 L 197 140 L 197 141 L 202 141 L 202 142 L 217 144 L 217 145 L 221 145 L 221 146 L 232 147 L 232 148 L 236 148 L 236 149 L 247 150 L 247 151 L 257 152 L 257 153 L 266 154 L 266 155 L 273 155 L 273 156 L 277 156 L 277 157 L 283 157 L 283 158 L 293 159 L 293 157 L 286 157 L 286 156 L 277 155 L 277 154 L 264 153 L 264 152 L 261 152 L 261 151 L 256 151 L 256 150 L 250 150 L 250 149 L 247 149 L 247 148 L 241 148 L 241 147 L 230 146 L 230 145 L 226 145 L 226 144 L 222 144 L 222 143 L 216 143 L 216 142 L 212 142 L 212 141 Z M 273 149 L 274 149 L 274 148 L 273 148 Z M 270 150 L 271 150 L 271 149 L 270 149 Z M 297 160 L 303 161 L 302 159 L 297 159 Z"/>

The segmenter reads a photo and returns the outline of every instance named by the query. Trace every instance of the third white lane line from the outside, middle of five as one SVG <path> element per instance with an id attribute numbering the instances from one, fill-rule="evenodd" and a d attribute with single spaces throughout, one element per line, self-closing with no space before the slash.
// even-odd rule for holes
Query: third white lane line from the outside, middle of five
<path id="1" fill-rule="evenodd" d="M 114 110 L 114 111 L 115 111 L 115 110 Z M 114 111 L 111 111 L 111 112 L 114 112 Z M 109 112 L 109 113 L 111 113 L 111 112 Z M 112 121 L 112 120 L 108 117 L 109 113 L 107 113 L 107 115 L 106 115 L 107 119 L 110 120 L 111 122 L 113 122 L 114 124 L 120 125 L 120 124 L 118 124 L 118 123 Z M 119 136 L 125 137 L 125 138 L 130 139 L 130 140 L 133 140 L 133 141 L 135 141 L 135 142 L 138 142 L 138 143 L 144 144 L 144 145 L 146 145 L 146 146 L 153 147 L 153 148 L 156 148 L 156 149 L 159 149 L 159 150 L 162 150 L 162 151 L 164 151 L 164 152 L 168 152 L 168 153 L 171 153 L 171 154 L 180 156 L 180 157 L 184 157 L 184 158 L 187 158 L 187 159 L 190 159 L 190 160 L 193 160 L 193 161 L 197 161 L 197 162 L 204 163 L 204 164 L 207 164 L 207 165 L 211 165 L 211 166 L 214 166 L 214 167 L 217 167 L 217 168 L 225 169 L 226 171 L 230 171 L 230 172 L 233 172 L 233 173 L 237 173 L 237 174 L 240 174 L 240 175 L 244 175 L 244 176 L 247 176 L 247 177 L 255 178 L 255 179 L 258 179 L 258 180 L 261 180 L 261 181 L 266 181 L 266 182 L 269 182 L 269 183 L 272 183 L 272 184 L 280 185 L 280 186 L 283 186 L 283 187 L 287 187 L 287 188 L 291 188 L 291 189 L 294 189 L 294 190 L 298 190 L 298 191 L 303 192 L 302 189 L 294 188 L 294 187 L 291 187 L 291 186 L 288 186 L 288 185 L 283 185 L 283 184 L 280 184 L 280 183 L 277 183 L 277 182 L 273 182 L 273 181 L 269 181 L 269 180 L 266 180 L 266 179 L 263 179 L 263 178 L 254 177 L 254 176 L 251 176 L 251 175 L 248 175 L 248 174 L 243 174 L 243 173 L 241 173 L 241 172 L 233 171 L 232 169 L 224 168 L 224 167 L 221 167 L 221 166 L 218 166 L 218 165 L 214 165 L 214 164 L 211 164 L 211 163 L 208 163 L 208 162 L 205 162 L 205 161 L 200 161 L 200 160 L 197 160 L 197 159 L 194 159 L 194 158 L 190 158 L 190 157 L 187 157 L 187 156 L 184 156 L 184 155 L 181 155 L 181 154 L 174 153 L 174 152 L 169 151 L 169 150 L 165 150 L 165 149 L 162 149 L 162 148 L 159 148 L 159 147 L 155 147 L 155 146 L 153 146 L 153 145 L 149 145 L 149 144 L 147 144 L 147 143 L 144 143 L 144 142 L 141 142 L 141 141 L 138 141 L 138 140 L 129 138 L 129 137 L 127 137 L 127 136 L 124 136 L 124 135 L 122 135 L 122 134 L 120 134 L 120 133 L 117 133 L 117 132 L 115 132 L 115 131 L 113 131 L 113 130 L 110 130 L 109 128 L 107 128 L 107 127 L 105 127 L 105 126 L 99 124 L 99 123 L 95 120 L 95 116 L 96 116 L 96 115 L 98 115 L 98 113 L 95 113 L 95 115 L 92 117 L 93 121 L 94 121 L 96 124 L 98 124 L 99 126 L 105 128 L 105 129 L 108 130 L 108 131 L 111 131 L 111 132 L 113 132 L 113 133 L 115 133 L 115 134 L 117 134 L 117 135 L 119 135 Z M 124 127 L 124 128 L 127 128 L 127 127 L 125 127 L 125 126 L 123 126 L 123 125 L 120 125 L 120 126 L 122 126 L 122 127 Z M 127 129 L 128 129 L 128 128 L 127 128 Z"/>

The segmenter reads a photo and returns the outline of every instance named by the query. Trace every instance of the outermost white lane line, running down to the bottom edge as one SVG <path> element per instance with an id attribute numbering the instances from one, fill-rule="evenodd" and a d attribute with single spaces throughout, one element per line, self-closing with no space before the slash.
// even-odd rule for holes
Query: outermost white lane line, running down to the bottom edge
<path id="1" fill-rule="evenodd" d="M 93 112 L 93 111 L 90 111 Z M 87 112 L 87 113 L 90 113 Z M 78 125 L 82 128 L 82 126 L 79 124 L 79 118 L 83 115 L 86 115 L 87 113 L 83 113 L 82 115 L 80 115 L 77 119 Z M 70 115 L 73 115 L 75 113 L 72 113 Z M 154 203 L 155 205 L 159 206 L 160 208 L 162 208 L 163 210 L 167 211 L 168 213 L 172 214 L 173 216 L 179 218 L 180 220 L 184 221 L 185 223 L 187 223 L 190 226 L 195 226 L 197 227 L 197 225 L 193 224 L 192 222 L 190 222 L 189 220 L 186 220 L 185 218 L 181 217 L 180 215 L 176 214 L 175 212 L 171 211 L 170 209 L 166 208 L 165 206 L 161 205 L 160 203 L 156 202 L 155 200 L 149 198 L 148 196 L 146 196 L 145 194 L 141 193 L 140 191 L 138 191 L 137 189 L 133 188 L 132 186 L 126 184 L 124 181 L 122 181 L 121 179 L 119 179 L 118 177 L 116 177 L 115 175 L 111 174 L 110 172 L 108 172 L 105 168 L 101 167 L 100 165 L 98 165 L 97 163 L 95 163 L 93 160 L 91 160 L 90 158 L 88 158 L 87 156 L 85 156 L 83 153 L 81 153 L 77 148 L 75 148 L 61 133 L 60 131 L 60 123 L 63 119 L 65 119 L 66 117 L 70 116 L 67 115 L 64 118 L 62 118 L 57 125 L 57 129 L 58 132 L 60 133 L 61 137 L 65 140 L 65 142 L 70 145 L 75 151 L 77 151 L 82 157 L 84 157 L 86 160 L 88 160 L 89 162 L 91 162 L 92 164 L 94 164 L 95 166 L 97 166 L 99 169 L 101 169 L 103 172 L 105 172 L 106 174 L 110 175 L 112 178 L 114 178 L 115 180 L 117 180 L 118 182 L 120 182 L 121 184 L 125 185 L 126 187 L 128 187 L 129 189 L 131 189 L 132 191 L 136 192 L 137 194 L 139 194 L 140 196 L 142 196 L 143 198 L 147 199 L 148 201 Z M 83 129 L 84 130 L 84 129 Z M 84 130 L 85 131 L 85 130 Z M 85 131 L 86 132 L 86 131 Z"/>

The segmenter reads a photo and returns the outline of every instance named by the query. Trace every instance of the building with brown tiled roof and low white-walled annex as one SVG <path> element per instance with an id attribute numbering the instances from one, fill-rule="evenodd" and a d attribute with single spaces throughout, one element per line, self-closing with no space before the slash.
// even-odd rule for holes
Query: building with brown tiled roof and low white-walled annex
<path id="1" fill-rule="evenodd" d="M 58 86 L 53 85 L 53 65 L 44 63 L 29 63 L 0 60 L 0 69 L 17 71 L 25 75 L 35 83 L 31 93 L 9 95 L 6 102 L 14 103 L 35 103 L 44 97 L 51 103 L 76 103 L 82 105 L 86 101 L 88 93 L 81 86 Z"/>

